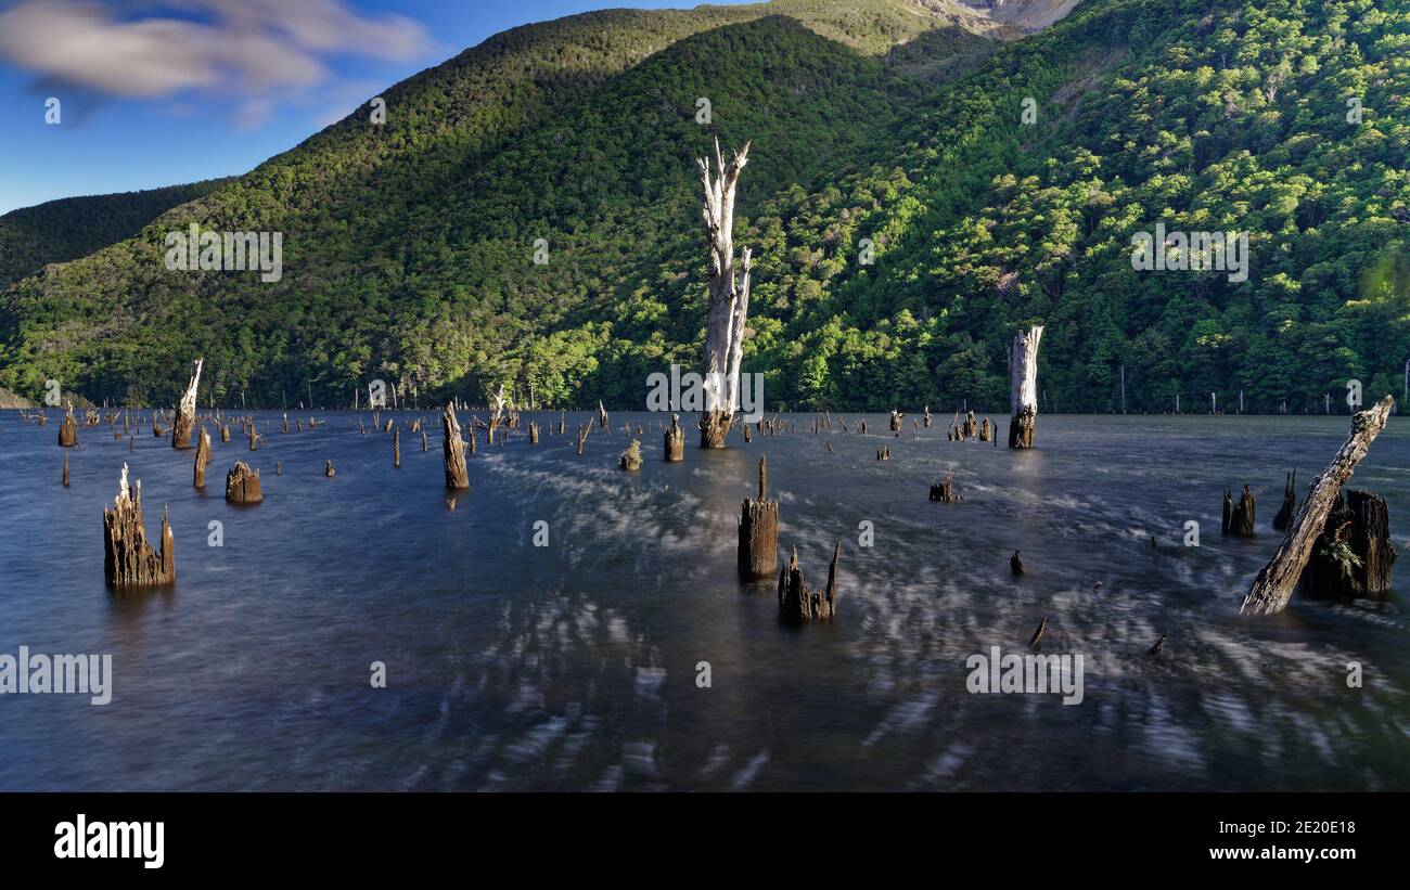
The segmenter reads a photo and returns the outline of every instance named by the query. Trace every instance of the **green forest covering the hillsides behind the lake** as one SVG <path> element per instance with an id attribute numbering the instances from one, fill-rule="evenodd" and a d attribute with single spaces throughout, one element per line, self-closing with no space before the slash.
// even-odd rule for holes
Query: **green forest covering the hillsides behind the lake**
<path id="1" fill-rule="evenodd" d="M 701 361 L 716 139 L 753 141 L 770 410 L 1005 410 L 1026 324 L 1050 411 L 1120 410 L 1122 372 L 1131 411 L 1345 410 L 1410 361 L 1410 0 L 1089 0 L 1034 35 L 905 0 L 605 11 L 382 97 L 125 222 L 0 218 L 0 386 L 169 404 L 204 356 L 203 403 L 639 408 Z M 282 231 L 282 280 L 166 270 L 192 222 Z M 1246 280 L 1134 269 L 1159 222 L 1246 232 Z"/>

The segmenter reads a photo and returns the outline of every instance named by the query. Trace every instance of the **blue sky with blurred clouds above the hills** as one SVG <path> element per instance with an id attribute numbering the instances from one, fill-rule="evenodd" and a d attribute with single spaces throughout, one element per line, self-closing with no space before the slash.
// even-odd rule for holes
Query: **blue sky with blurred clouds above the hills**
<path id="1" fill-rule="evenodd" d="M 0 0 L 0 214 L 59 197 L 244 173 L 386 86 L 515 25 L 594 8 L 695 6 L 99 3 L 80 13 L 66 0 Z M 306 21 L 290 24 L 289 10 L 306 11 Z M 45 123 L 49 97 L 61 101 L 56 125 Z"/>

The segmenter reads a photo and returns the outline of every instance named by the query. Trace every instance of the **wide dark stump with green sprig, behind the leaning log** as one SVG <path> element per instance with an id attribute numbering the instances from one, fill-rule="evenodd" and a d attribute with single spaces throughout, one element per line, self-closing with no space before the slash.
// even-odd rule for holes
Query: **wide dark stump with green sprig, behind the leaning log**
<path id="1" fill-rule="evenodd" d="M 1337 494 L 1297 590 L 1316 598 L 1385 600 L 1394 563 L 1385 499 L 1351 489 Z"/>

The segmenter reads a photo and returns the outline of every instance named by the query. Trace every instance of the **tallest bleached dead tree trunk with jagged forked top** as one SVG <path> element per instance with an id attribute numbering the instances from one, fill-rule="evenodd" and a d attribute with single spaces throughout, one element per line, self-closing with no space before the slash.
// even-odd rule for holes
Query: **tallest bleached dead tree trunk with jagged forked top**
<path id="1" fill-rule="evenodd" d="M 705 334 L 705 414 L 701 417 L 701 448 L 723 448 L 735 422 L 739 366 L 744 355 L 744 324 L 749 318 L 752 253 L 740 255 L 735 275 L 735 189 L 749 163 L 749 142 L 725 165 L 715 142 L 719 177 L 711 176 L 709 158 L 697 165 L 705 187 L 705 238 L 709 251 L 709 308 Z"/>

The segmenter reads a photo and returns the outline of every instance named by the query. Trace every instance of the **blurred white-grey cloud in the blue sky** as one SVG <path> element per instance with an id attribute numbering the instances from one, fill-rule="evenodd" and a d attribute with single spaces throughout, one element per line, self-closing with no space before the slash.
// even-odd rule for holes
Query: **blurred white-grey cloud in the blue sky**
<path id="1" fill-rule="evenodd" d="M 343 0 L 188 0 L 188 17 L 162 8 L 21 0 L 0 11 L 0 59 L 121 99 L 223 96 L 248 125 L 279 103 L 336 89 L 329 56 L 405 61 L 430 48 L 420 24 L 362 17 Z"/>

